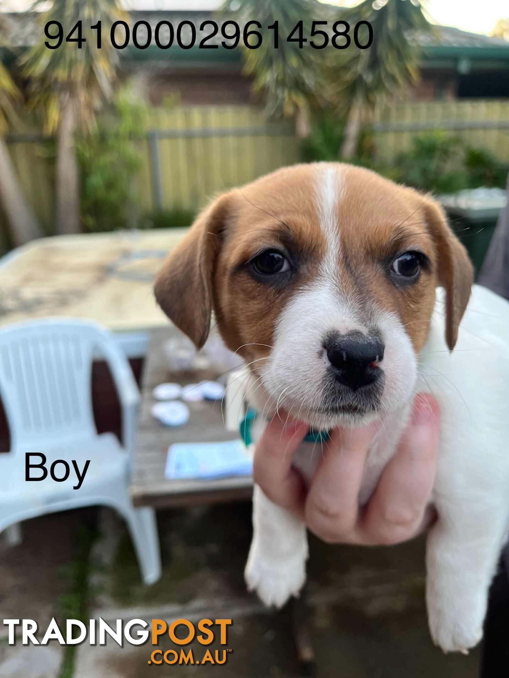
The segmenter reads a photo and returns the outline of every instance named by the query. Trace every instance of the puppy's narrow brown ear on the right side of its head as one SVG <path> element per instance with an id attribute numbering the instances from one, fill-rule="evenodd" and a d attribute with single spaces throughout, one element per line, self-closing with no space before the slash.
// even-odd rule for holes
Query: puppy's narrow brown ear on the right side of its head
<path id="1" fill-rule="evenodd" d="M 438 282 L 445 288 L 445 340 L 452 351 L 472 291 L 474 268 L 465 247 L 447 223 L 440 205 L 428 199 L 423 210 L 438 255 Z"/>

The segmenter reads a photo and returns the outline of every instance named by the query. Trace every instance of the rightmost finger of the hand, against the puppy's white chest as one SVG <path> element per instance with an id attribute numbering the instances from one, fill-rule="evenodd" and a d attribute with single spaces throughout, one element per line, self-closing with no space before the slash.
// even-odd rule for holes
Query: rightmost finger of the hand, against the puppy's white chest
<path id="1" fill-rule="evenodd" d="M 396 544 L 426 529 L 438 449 L 438 405 L 431 395 L 413 401 L 412 418 L 398 451 L 385 467 L 363 513 L 359 532 L 365 543 Z"/>

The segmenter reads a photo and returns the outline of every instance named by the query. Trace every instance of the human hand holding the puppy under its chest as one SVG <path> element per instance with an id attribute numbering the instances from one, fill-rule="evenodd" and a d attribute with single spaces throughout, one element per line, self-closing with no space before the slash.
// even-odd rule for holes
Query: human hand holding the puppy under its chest
<path id="1" fill-rule="evenodd" d="M 362 511 L 358 495 L 377 427 L 332 431 L 306 489 L 292 460 L 307 428 L 307 424 L 280 414 L 266 426 L 257 444 L 253 476 L 271 501 L 295 513 L 309 530 L 330 543 L 397 544 L 429 527 L 434 519 L 428 501 L 439 435 L 438 406 L 431 395 L 415 397 L 411 421 L 398 450 Z"/>

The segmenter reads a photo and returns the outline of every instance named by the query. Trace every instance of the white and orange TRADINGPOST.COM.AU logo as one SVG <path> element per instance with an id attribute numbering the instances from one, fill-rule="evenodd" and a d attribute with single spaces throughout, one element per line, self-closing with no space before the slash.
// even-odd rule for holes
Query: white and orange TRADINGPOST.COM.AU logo
<path id="1" fill-rule="evenodd" d="M 62 623 L 62 629 L 53 618 L 48 627 L 39 629 L 33 619 L 4 619 L 8 629 L 9 645 L 48 645 L 50 641 L 60 645 L 106 645 L 111 639 L 123 647 L 124 641 L 130 645 L 145 645 L 150 641 L 152 647 L 168 638 L 175 647 L 162 650 L 153 647 L 147 664 L 225 664 L 232 652 L 228 647 L 228 626 L 231 619 L 200 619 L 194 623 L 189 619 L 175 619 L 166 622 L 163 619 L 143 619 L 130 621 L 117 619 L 108 623 L 104 619 L 90 619 L 85 624 L 79 619 L 68 619 Z M 193 647 L 189 647 L 194 643 Z M 210 645 L 219 643 L 220 649 Z"/>

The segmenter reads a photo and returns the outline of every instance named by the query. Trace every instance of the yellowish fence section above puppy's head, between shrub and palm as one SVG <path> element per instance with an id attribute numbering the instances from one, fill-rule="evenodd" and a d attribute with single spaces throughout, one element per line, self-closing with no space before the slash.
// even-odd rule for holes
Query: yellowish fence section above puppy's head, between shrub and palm
<path id="1" fill-rule="evenodd" d="M 252 106 L 179 106 L 151 116 L 142 207 L 196 209 L 232 186 L 250 182 L 299 159 L 290 123 L 268 122 Z"/>

